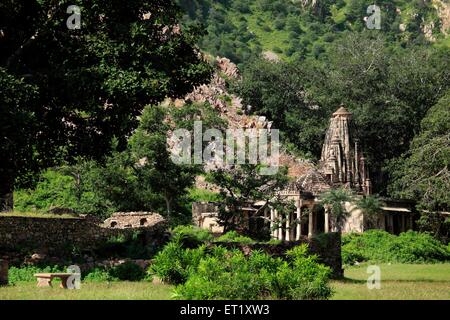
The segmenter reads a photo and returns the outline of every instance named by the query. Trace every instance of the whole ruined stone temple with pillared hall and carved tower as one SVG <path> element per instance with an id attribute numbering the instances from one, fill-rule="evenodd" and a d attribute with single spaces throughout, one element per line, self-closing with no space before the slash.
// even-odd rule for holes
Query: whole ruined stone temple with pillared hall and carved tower
<path id="1" fill-rule="evenodd" d="M 355 137 L 355 127 L 352 114 L 341 106 L 330 119 L 330 125 L 325 135 L 321 159 L 317 164 L 308 161 L 286 161 L 287 156 L 281 155 L 280 163 L 289 169 L 288 175 L 292 182 L 281 191 L 280 195 L 295 204 L 295 210 L 282 219 L 277 210 L 267 208 L 264 219 L 245 219 L 249 221 L 246 228 L 250 234 L 261 230 L 271 233 L 273 239 L 295 241 L 302 236 L 313 236 L 323 232 L 336 231 L 332 225 L 330 212 L 321 205 L 320 196 L 332 188 L 343 187 L 351 190 L 357 197 L 372 194 L 372 182 L 364 150 L 361 149 Z M 413 203 L 383 199 L 382 213 L 370 221 L 371 228 L 386 230 L 398 234 L 415 228 Z M 261 212 L 258 208 L 265 205 L 259 201 L 245 208 L 245 215 Z M 194 224 L 220 234 L 223 229 L 217 222 L 217 204 L 194 203 Z M 369 227 L 369 219 L 356 208 L 354 203 L 346 203 L 349 216 L 343 225 L 342 232 L 363 232 Z M 283 225 L 277 221 L 283 220 Z M 250 223 L 250 221 L 253 221 Z M 277 228 L 279 227 L 279 228 Z"/>

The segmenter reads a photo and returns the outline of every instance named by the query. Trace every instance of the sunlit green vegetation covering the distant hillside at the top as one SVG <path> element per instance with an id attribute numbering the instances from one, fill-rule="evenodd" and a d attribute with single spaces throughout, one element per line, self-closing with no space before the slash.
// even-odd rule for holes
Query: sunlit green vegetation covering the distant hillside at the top
<path id="1" fill-rule="evenodd" d="M 178 0 L 185 11 L 184 24 L 201 23 L 208 34 L 201 47 L 243 66 L 249 58 L 271 51 L 281 59 L 320 57 L 326 46 L 346 31 L 366 29 L 371 0 Z M 434 25 L 440 34 L 438 12 L 428 1 L 382 0 L 381 30 L 400 45 L 426 43 L 423 27 Z M 404 30 L 401 31 L 400 25 Z"/>

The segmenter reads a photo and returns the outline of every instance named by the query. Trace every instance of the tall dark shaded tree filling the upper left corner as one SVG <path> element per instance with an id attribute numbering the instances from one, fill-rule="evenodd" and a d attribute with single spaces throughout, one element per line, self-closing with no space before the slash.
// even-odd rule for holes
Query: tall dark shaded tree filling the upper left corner
<path id="1" fill-rule="evenodd" d="M 80 28 L 73 29 L 78 12 Z M 8 155 L 0 163 L 0 199 L 24 168 L 100 158 L 112 137 L 124 147 L 144 105 L 183 96 L 210 78 L 195 46 L 202 32 L 180 31 L 180 15 L 172 0 L 0 4 L 1 124 L 17 124 L 13 133 L 0 131 Z M 10 197 L 1 200 L 0 207 L 10 206 Z"/>

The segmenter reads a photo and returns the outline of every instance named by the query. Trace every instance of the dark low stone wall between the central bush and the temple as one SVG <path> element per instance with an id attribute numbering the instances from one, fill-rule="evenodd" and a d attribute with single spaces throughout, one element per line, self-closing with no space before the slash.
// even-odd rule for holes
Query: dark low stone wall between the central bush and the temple
<path id="1" fill-rule="evenodd" d="M 339 233 L 324 233 L 311 239 L 302 237 L 299 241 L 283 242 L 281 244 L 214 242 L 213 245 L 239 249 L 246 255 L 253 250 L 261 250 L 274 257 L 285 257 L 286 251 L 304 243 L 308 244 L 311 254 L 316 254 L 321 263 L 331 268 L 334 278 L 340 278 L 344 275 L 341 257 L 341 235 Z"/>

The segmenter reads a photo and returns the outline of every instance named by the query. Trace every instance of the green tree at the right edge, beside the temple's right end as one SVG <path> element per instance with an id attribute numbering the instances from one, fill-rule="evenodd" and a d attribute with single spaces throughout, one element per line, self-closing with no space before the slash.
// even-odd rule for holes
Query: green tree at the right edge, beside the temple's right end
<path id="1" fill-rule="evenodd" d="M 450 92 L 421 123 L 421 131 L 402 157 L 391 161 L 390 194 L 418 201 L 422 228 L 448 238 L 450 221 L 439 212 L 450 210 Z"/>

